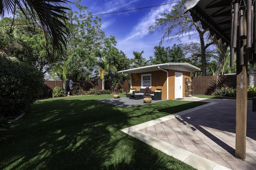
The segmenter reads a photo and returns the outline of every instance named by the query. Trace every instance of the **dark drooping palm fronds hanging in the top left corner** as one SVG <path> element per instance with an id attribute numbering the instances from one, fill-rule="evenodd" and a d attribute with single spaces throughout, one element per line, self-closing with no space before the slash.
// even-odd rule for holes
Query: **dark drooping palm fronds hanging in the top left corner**
<path id="1" fill-rule="evenodd" d="M 54 61 L 62 54 L 62 46 L 66 47 L 67 37 L 70 34 L 66 27 L 66 11 L 69 8 L 61 6 L 68 0 L 1 0 L 0 16 L 12 13 L 20 8 L 25 16 L 30 16 L 34 22 L 40 23 L 49 58 Z M 14 11 L 12 11 L 14 10 Z M 0 42 L 1 44 L 1 42 Z"/>

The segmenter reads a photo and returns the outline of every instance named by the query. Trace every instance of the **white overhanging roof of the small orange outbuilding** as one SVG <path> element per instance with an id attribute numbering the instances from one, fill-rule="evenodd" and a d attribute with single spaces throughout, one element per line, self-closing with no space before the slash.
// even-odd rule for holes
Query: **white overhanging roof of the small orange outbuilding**
<path id="1" fill-rule="evenodd" d="M 158 71 L 160 70 L 159 68 L 162 68 L 165 70 L 178 70 L 178 71 L 187 71 L 187 72 L 200 71 L 200 68 L 188 63 L 164 63 L 164 64 L 155 64 L 150 66 L 143 66 L 138 68 L 131 68 L 128 70 L 122 70 L 118 72 L 124 73 L 124 74 L 136 74 L 136 73 L 142 73 L 142 72 Z"/>

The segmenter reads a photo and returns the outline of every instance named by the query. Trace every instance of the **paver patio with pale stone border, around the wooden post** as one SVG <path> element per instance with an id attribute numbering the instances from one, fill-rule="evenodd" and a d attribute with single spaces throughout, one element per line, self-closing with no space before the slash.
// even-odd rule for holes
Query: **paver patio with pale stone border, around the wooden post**
<path id="1" fill-rule="evenodd" d="M 199 170 L 256 169 L 256 112 L 252 112 L 252 101 L 248 101 L 243 161 L 234 157 L 236 100 L 182 100 L 209 103 L 121 131 Z"/>

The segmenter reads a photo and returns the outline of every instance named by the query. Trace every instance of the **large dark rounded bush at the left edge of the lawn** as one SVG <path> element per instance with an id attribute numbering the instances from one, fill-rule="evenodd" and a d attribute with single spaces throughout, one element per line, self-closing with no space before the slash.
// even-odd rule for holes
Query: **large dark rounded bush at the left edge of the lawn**
<path id="1" fill-rule="evenodd" d="M 30 109 L 43 93 L 43 78 L 31 65 L 0 57 L 0 117 L 17 117 Z"/>

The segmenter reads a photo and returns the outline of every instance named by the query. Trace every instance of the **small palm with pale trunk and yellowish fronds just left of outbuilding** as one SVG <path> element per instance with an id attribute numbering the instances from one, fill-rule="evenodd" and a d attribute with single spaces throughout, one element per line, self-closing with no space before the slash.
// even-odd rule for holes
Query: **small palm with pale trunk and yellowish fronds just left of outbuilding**
<path id="1" fill-rule="evenodd" d="M 103 57 L 100 58 L 98 65 L 100 66 L 99 74 L 100 79 L 102 80 L 102 90 L 104 90 L 104 76 L 107 72 L 117 72 L 117 69 L 116 66 L 110 65 L 110 63 L 108 63 Z"/>

